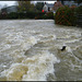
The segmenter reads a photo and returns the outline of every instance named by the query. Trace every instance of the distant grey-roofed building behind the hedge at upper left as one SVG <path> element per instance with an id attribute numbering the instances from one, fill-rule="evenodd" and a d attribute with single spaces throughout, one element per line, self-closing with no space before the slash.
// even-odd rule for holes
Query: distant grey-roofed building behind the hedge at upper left
<path id="1" fill-rule="evenodd" d="M 7 13 L 11 13 L 11 12 L 17 12 L 17 5 L 11 5 L 11 7 L 1 9 L 2 14 L 7 14 Z"/>

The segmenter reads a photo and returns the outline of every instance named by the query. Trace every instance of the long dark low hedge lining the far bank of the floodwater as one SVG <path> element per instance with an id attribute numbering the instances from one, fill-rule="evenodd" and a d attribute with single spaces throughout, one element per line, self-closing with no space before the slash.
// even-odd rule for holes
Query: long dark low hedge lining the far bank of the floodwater
<path id="1" fill-rule="evenodd" d="M 48 12 L 11 12 L 9 14 L 0 14 L 0 20 L 20 20 L 20 19 L 35 19 L 35 20 L 47 20 L 47 19 L 54 19 L 54 13 Z"/>

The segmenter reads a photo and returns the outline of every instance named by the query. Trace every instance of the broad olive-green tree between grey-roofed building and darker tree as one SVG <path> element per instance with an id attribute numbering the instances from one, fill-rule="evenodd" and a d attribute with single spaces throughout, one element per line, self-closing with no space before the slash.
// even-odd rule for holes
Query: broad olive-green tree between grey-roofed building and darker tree
<path id="1" fill-rule="evenodd" d="M 17 1 L 19 4 L 19 11 L 20 12 L 28 12 L 33 11 L 34 4 L 31 4 L 31 1 Z"/>

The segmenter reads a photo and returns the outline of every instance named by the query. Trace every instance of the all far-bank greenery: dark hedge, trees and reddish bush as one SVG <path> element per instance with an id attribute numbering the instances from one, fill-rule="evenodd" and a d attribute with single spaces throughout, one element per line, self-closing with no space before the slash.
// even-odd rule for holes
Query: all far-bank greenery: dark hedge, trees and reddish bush
<path id="1" fill-rule="evenodd" d="M 82 19 L 79 19 L 77 15 L 82 14 L 82 5 L 74 8 L 74 7 L 62 7 L 59 8 L 54 14 L 52 12 L 42 12 L 43 2 L 37 2 L 34 7 L 31 4 L 31 1 L 17 1 L 19 3 L 19 11 L 12 12 L 8 14 L 0 14 L 0 19 L 35 19 L 35 20 L 47 20 L 55 17 L 55 23 L 60 25 L 68 25 L 68 26 L 74 26 L 77 25 L 78 21 L 82 21 Z"/>

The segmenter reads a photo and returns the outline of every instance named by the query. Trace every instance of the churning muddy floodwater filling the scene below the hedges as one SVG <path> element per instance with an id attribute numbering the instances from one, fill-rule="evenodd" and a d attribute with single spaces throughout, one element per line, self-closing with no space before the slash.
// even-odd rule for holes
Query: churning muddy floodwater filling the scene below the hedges
<path id="1" fill-rule="evenodd" d="M 0 21 L 0 81 L 82 81 L 82 28 Z"/>

